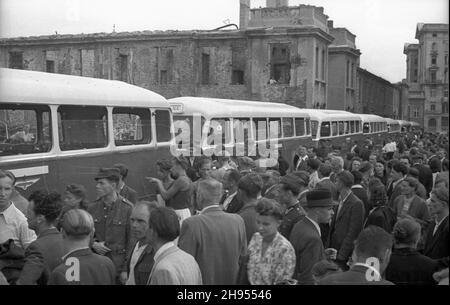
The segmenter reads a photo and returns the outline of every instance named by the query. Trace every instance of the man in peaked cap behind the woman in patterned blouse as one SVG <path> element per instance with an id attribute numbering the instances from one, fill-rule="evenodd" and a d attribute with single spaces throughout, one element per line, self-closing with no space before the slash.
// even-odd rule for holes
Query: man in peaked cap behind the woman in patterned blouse
<path id="1" fill-rule="evenodd" d="M 280 204 L 285 208 L 279 232 L 289 238 L 294 225 L 306 214 L 299 201 L 299 194 L 306 189 L 306 183 L 294 174 L 283 176 L 280 180 Z"/>

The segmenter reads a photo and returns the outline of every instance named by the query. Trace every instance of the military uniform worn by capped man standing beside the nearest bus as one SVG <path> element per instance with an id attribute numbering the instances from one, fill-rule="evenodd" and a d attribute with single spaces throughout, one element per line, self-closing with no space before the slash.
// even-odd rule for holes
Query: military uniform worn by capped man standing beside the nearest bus
<path id="1" fill-rule="evenodd" d="M 118 274 L 127 270 L 127 253 L 133 245 L 130 234 L 132 208 L 131 202 L 118 195 L 111 205 L 100 198 L 88 209 L 94 219 L 94 240 L 105 242 L 105 246 L 111 249 L 106 256 L 113 261 Z"/>

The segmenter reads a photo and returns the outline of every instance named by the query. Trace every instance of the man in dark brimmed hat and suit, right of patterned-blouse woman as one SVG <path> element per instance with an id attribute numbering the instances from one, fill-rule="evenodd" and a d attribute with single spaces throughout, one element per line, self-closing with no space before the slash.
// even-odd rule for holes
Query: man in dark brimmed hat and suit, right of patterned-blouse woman
<path id="1" fill-rule="evenodd" d="M 306 194 L 306 216 L 295 224 L 289 238 L 297 257 L 294 278 L 300 284 L 314 284 L 312 268 L 326 258 L 319 224 L 331 220 L 334 205 L 327 189 Z"/>

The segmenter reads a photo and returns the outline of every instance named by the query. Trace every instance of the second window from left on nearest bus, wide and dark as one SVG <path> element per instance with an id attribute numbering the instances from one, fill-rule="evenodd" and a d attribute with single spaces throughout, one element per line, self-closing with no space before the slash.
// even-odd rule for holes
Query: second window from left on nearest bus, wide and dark
<path id="1" fill-rule="evenodd" d="M 108 145 L 105 107 L 59 106 L 59 146 L 62 151 L 101 148 Z"/>

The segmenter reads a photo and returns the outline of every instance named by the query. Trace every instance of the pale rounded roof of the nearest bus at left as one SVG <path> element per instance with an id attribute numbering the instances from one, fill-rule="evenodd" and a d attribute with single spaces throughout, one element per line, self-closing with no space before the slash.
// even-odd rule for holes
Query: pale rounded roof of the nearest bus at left
<path id="1" fill-rule="evenodd" d="M 168 108 L 150 90 L 121 81 L 0 68 L 0 102 Z"/>

